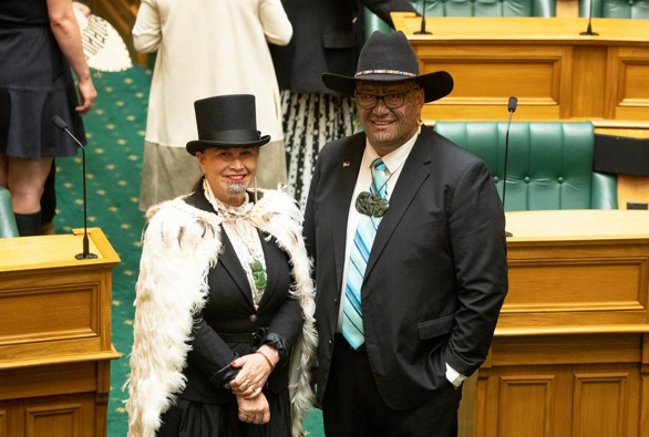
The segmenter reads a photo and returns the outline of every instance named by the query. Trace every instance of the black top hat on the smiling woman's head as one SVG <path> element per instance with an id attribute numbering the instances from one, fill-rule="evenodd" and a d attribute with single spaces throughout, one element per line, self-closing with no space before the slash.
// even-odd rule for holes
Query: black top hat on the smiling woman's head
<path id="1" fill-rule="evenodd" d="M 257 131 L 255 96 L 251 94 L 217 95 L 194 102 L 198 139 L 187 143 L 187 152 L 196 155 L 209 147 L 262 146 L 270 135 Z"/>

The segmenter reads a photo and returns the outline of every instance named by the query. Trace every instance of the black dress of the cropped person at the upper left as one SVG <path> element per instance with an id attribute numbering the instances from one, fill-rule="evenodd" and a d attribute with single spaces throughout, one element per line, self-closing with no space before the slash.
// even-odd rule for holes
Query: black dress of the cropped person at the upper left
<path id="1" fill-rule="evenodd" d="M 60 116 L 85 144 L 74 80 L 45 0 L 0 1 L 0 149 L 31 159 L 76 155 L 76 143 L 51 123 Z"/>

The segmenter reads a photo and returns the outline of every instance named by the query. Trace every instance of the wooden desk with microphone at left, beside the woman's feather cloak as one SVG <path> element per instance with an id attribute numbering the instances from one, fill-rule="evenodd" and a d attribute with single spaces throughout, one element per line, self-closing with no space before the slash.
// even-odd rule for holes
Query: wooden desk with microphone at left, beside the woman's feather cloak
<path id="1" fill-rule="evenodd" d="M 111 271 L 120 258 L 83 236 L 0 239 L 0 437 L 106 435 Z"/>

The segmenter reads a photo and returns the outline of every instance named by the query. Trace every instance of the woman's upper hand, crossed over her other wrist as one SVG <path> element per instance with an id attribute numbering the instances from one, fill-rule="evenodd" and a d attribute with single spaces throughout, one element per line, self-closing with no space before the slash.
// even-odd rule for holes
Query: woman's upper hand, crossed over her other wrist
<path id="1" fill-rule="evenodd" d="M 231 363 L 233 367 L 240 368 L 237 376 L 229 382 L 233 393 L 245 396 L 247 399 L 261 394 L 261 388 L 268 381 L 268 375 L 277 365 L 277 351 L 268 345 L 259 347 L 257 353 L 244 355 Z"/>

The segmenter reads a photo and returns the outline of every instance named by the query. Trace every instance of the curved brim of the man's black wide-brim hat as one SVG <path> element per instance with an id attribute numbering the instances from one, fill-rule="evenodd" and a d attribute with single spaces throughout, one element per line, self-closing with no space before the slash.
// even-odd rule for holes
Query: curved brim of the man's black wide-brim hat
<path id="1" fill-rule="evenodd" d="M 430 103 L 447 96 L 453 91 L 453 77 L 445 71 L 422 74 L 419 76 L 401 76 L 395 74 L 367 74 L 362 77 L 350 77 L 341 74 L 323 73 L 322 82 L 332 91 L 353 97 L 359 82 L 404 82 L 413 81 L 424 90 L 424 102 Z"/>

